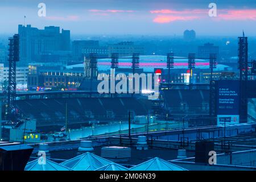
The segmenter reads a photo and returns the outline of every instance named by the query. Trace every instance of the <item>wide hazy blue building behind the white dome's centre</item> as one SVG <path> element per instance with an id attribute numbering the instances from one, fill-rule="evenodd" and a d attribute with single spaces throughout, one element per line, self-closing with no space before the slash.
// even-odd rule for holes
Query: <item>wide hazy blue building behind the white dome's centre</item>
<path id="1" fill-rule="evenodd" d="M 133 53 L 144 54 L 144 49 L 142 46 L 135 45 L 133 42 L 119 42 L 117 44 L 109 45 L 109 57 L 112 53 L 118 53 L 120 57 L 122 56 L 132 56 Z"/>

